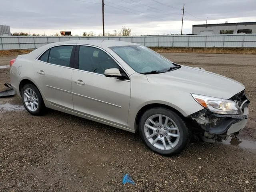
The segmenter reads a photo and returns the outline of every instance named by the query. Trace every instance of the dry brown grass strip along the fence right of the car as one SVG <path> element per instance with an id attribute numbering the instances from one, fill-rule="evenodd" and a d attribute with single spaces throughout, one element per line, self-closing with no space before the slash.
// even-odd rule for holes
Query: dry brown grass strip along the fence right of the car
<path id="1" fill-rule="evenodd" d="M 159 53 L 256 54 L 256 48 L 149 47 Z"/>

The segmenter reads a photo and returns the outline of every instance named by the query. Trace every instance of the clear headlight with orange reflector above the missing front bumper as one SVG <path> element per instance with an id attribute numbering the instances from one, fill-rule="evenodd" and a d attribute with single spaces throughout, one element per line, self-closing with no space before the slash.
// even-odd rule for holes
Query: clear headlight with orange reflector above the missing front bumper
<path id="1" fill-rule="evenodd" d="M 207 108 L 211 112 L 226 115 L 242 114 L 242 110 L 234 101 L 197 94 L 191 95 L 200 105 Z"/>

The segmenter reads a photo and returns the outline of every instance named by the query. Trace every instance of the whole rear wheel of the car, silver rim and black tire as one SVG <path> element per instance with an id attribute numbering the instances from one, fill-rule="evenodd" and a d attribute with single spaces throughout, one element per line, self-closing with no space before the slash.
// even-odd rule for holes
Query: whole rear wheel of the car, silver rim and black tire
<path id="1" fill-rule="evenodd" d="M 22 103 L 30 114 L 37 116 L 44 114 L 44 100 L 36 86 L 33 84 L 25 84 L 22 87 L 21 96 Z M 30 96 L 30 98 L 28 96 Z"/>

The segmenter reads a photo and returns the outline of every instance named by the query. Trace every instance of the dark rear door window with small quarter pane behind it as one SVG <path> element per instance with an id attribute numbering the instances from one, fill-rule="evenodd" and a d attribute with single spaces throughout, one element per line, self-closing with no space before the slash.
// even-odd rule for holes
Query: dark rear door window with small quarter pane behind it
<path id="1" fill-rule="evenodd" d="M 65 45 L 65 46 L 58 46 L 58 47 L 50 48 L 50 54 L 48 56 L 48 61 L 45 61 L 45 60 L 44 61 L 51 63 L 51 64 L 69 67 L 72 48 L 73 48 L 72 45 Z M 46 57 L 42 57 L 42 58 L 45 59 Z"/>

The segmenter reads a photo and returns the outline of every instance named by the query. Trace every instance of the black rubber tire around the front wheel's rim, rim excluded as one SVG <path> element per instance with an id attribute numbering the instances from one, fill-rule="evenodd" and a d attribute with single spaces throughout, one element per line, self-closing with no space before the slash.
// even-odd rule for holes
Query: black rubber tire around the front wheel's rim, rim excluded
<path id="1" fill-rule="evenodd" d="M 178 143 L 176 144 L 176 146 L 174 146 L 174 148 L 171 148 L 170 150 L 158 149 L 154 147 L 152 144 L 150 144 L 150 142 L 146 138 L 146 134 L 144 132 L 144 124 L 150 116 L 153 116 L 155 114 L 161 114 L 169 117 L 174 121 L 174 123 L 178 127 L 180 139 L 178 140 Z M 158 154 L 165 155 L 165 156 L 172 156 L 182 152 L 182 150 L 184 150 L 184 148 L 187 146 L 187 144 L 190 141 L 190 130 L 186 126 L 184 120 L 182 120 L 182 118 L 176 112 L 166 108 L 161 108 L 161 107 L 152 108 L 144 112 L 139 122 L 139 133 L 140 133 L 140 137 L 142 138 L 143 142 L 148 146 L 148 148 L 150 148 L 152 151 Z"/>

